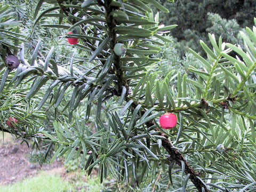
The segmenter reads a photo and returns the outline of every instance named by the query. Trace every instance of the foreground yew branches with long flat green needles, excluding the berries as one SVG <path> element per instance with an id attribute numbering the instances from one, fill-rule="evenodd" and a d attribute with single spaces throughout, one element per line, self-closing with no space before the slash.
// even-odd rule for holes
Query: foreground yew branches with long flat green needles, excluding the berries
<path id="1" fill-rule="evenodd" d="M 127 191 L 255 191 L 256 27 L 240 32 L 242 46 L 209 34 L 211 46 L 200 42 L 206 59 L 190 49 L 188 59 L 177 59 L 182 67 L 167 66 L 166 73 L 156 68 L 166 66 L 159 46 L 171 43 L 163 34 L 176 26 L 159 26 L 150 6 L 168 12 L 155 0 L 39 0 L 33 29 L 44 28 L 47 38 L 38 31 L 26 56 L 22 42 L 29 39 L 19 33 L 26 27 L 12 27 L 13 12 L 0 14 L 0 96 L 15 101 L 1 99 L 10 105 L 1 129 L 45 141 L 46 156 L 55 150 L 51 162 L 82 155 L 82 169 L 99 167 L 101 182 L 129 183 Z M 76 26 L 82 34 L 67 35 Z M 61 47 L 77 51 L 62 56 L 56 42 L 67 37 L 79 43 Z M 126 46 L 125 55 L 115 54 L 116 43 Z M 21 60 L 12 71 L 3 67 L 10 54 Z M 26 95 L 23 108 L 17 89 Z M 41 110 L 47 121 L 30 126 L 45 117 Z M 171 130 L 158 124 L 166 111 L 178 116 Z M 13 127 L 5 124 L 10 114 L 18 119 Z"/>

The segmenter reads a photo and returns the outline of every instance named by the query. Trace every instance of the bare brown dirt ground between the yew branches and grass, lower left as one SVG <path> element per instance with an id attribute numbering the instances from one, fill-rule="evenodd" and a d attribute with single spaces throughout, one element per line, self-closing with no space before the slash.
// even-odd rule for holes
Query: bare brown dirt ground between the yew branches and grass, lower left
<path id="1" fill-rule="evenodd" d="M 60 174 L 65 172 L 61 161 L 44 164 L 42 167 L 39 164 L 30 163 L 28 154 L 32 149 L 28 148 L 25 142 L 20 144 L 20 140 L 13 141 L 11 135 L 5 136 L 5 142 L 3 142 L 2 132 L 0 133 L 0 186 L 33 177 L 42 170 Z"/>

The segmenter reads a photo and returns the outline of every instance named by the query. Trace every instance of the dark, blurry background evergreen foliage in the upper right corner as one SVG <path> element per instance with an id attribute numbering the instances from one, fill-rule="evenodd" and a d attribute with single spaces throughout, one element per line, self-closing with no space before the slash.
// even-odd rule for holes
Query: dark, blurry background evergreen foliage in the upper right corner
<path id="1" fill-rule="evenodd" d="M 181 55 L 184 55 L 189 47 L 204 55 L 198 42 L 203 39 L 207 45 L 210 45 L 207 37 L 209 32 L 214 33 L 216 37 L 221 35 L 223 42 L 231 40 L 233 43 L 239 34 L 238 30 L 253 26 L 252 18 L 255 17 L 256 12 L 256 2 L 253 0 L 177 0 L 174 2 L 160 0 L 159 2 L 170 10 L 167 14 L 161 12 L 159 21 L 166 25 L 175 23 L 179 26 L 171 33 L 177 38 Z M 228 36 L 232 39 L 226 38 Z"/>

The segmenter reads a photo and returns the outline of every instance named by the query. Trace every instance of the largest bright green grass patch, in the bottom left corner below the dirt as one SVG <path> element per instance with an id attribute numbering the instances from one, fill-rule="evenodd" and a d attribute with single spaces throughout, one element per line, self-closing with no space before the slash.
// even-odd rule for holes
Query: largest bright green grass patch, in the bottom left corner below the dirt
<path id="1" fill-rule="evenodd" d="M 71 191 L 71 186 L 58 174 L 39 174 L 33 178 L 27 178 L 13 185 L 3 186 L 0 192 L 66 192 Z"/>

